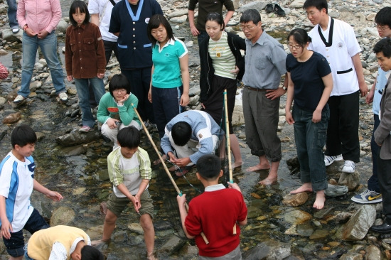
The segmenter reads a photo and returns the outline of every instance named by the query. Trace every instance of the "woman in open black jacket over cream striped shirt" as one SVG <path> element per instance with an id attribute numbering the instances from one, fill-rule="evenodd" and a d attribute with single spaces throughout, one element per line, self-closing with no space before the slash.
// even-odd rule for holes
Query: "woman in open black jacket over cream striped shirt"
<path id="1" fill-rule="evenodd" d="M 240 50 L 246 50 L 245 39 L 224 31 L 225 23 L 219 13 L 206 16 L 205 30 L 208 37 L 200 43 L 200 102 L 202 109 L 225 129 L 222 121 L 224 97 L 227 90 L 228 122 L 234 167 L 242 165 L 239 142 L 232 130 L 232 114 L 235 107 L 237 80 L 245 73 L 245 58 Z M 227 129 L 225 129 L 227 131 Z"/>

